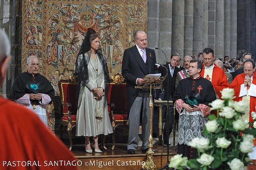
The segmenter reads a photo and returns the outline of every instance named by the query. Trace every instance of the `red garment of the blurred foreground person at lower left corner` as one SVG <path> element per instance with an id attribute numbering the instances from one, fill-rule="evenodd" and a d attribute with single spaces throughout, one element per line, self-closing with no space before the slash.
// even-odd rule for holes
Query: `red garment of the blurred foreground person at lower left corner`
<path id="1" fill-rule="evenodd" d="M 3 97 L 0 138 L 1 170 L 77 169 L 72 166 L 76 165 L 76 158 L 35 113 Z"/>

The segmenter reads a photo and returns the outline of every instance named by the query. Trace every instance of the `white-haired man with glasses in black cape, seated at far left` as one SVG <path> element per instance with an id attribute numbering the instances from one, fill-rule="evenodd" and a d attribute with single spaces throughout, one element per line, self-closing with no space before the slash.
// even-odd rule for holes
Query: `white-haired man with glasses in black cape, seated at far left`
<path id="1" fill-rule="evenodd" d="M 33 110 L 47 126 L 46 105 L 54 99 L 55 93 L 48 79 L 38 73 L 39 66 L 35 55 L 27 58 L 28 71 L 14 80 L 10 99 Z"/>

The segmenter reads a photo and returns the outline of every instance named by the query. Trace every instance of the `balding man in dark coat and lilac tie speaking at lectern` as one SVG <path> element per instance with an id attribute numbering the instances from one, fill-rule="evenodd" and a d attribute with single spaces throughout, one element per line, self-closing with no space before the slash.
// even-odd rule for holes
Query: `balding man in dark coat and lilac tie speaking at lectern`
<path id="1" fill-rule="evenodd" d="M 126 79 L 127 108 L 129 113 L 129 138 L 128 153 L 134 154 L 138 146 L 138 133 L 140 125 L 140 113 L 142 111 L 142 152 L 148 150 L 149 136 L 149 95 L 150 89 L 136 89 L 136 85 L 143 85 L 143 77 L 157 73 L 156 54 L 153 49 L 147 48 L 147 35 L 143 31 L 137 31 L 136 45 L 124 51 L 122 61 L 122 76 Z"/>

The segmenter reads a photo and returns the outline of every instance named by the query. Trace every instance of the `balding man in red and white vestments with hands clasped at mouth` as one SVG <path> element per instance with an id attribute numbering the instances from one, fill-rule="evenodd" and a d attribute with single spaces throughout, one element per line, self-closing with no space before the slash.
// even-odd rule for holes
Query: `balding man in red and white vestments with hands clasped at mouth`
<path id="1" fill-rule="evenodd" d="M 230 88 L 235 91 L 236 101 L 244 101 L 250 106 L 250 111 L 242 115 L 242 119 L 253 123 L 251 116 L 252 111 L 255 111 L 256 106 L 256 74 L 255 63 L 252 59 L 244 61 L 244 73 L 239 74 L 230 84 Z"/>

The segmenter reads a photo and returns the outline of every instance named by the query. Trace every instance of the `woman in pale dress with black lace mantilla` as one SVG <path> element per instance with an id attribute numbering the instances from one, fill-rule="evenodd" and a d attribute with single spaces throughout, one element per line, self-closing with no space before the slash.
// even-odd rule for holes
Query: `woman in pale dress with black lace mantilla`
<path id="1" fill-rule="evenodd" d="M 105 91 L 106 82 L 109 81 L 108 67 L 106 58 L 98 50 L 99 47 L 98 33 L 88 28 L 76 59 L 78 73 L 76 136 L 85 136 L 87 153 L 92 153 L 91 146 L 95 152 L 102 152 L 98 146 L 98 135 L 113 132 L 108 117 Z M 90 136 L 93 136 L 92 143 Z"/>

